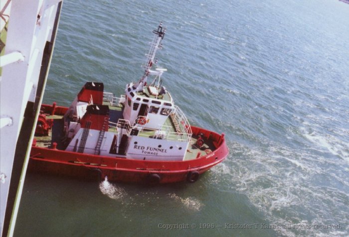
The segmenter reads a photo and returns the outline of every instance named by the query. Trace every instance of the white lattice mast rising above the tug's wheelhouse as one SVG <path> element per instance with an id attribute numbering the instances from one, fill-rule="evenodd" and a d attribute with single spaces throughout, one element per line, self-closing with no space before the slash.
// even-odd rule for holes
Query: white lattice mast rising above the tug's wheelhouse
<path id="1" fill-rule="evenodd" d="M 150 47 L 149 53 L 146 54 L 147 63 L 144 65 L 145 67 L 144 74 L 141 80 L 135 85 L 133 85 L 133 89 L 137 92 L 143 91 L 143 87 L 147 84 L 147 79 L 149 75 L 161 76 L 161 74 L 163 73 L 163 71 L 152 71 L 151 68 L 153 66 L 154 58 L 157 50 L 162 48 L 161 41 L 164 39 L 165 32 L 166 32 L 166 28 L 162 26 L 162 23 L 159 24 L 157 30 L 153 30 L 153 33 L 155 34 L 155 36 L 153 41 L 150 43 L 151 47 Z M 157 60 L 155 61 L 155 63 L 157 63 Z"/>

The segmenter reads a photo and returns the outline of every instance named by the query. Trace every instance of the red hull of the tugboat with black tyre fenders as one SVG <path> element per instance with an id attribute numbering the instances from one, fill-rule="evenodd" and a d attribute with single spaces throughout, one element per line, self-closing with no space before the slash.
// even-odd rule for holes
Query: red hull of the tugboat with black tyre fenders
<path id="1" fill-rule="evenodd" d="M 189 172 L 195 171 L 202 174 L 228 155 L 224 135 L 194 126 L 191 129 L 193 134 L 202 132 L 205 137 L 211 137 L 217 149 L 210 154 L 188 161 L 147 161 L 32 146 L 28 169 L 29 171 L 79 176 L 87 179 L 108 176 L 110 181 L 154 181 L 152 174 L 160 177 L 160 180 L 155 180 L 160 183 L 184 181 L 187 180 Z"/>

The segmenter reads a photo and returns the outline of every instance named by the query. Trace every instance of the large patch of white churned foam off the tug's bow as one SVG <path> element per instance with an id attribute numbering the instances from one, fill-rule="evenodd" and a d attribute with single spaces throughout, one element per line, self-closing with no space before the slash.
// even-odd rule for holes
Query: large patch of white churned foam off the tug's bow
<path id="1" fill-rule="evenodd" d="M 342 224 L 342 229 L 327 230 L 281 228 L 276 230 L 280 235 L 345 236 L 349 230 L 343 226 L 348 223 L 349 182 L 345 169 L 336 169 L 341 160 L 329 162 L 326 156 L 319 157 L 307 148 L 263 145 L 231 146 L 228 159 L 211 169 L 210 182 L 245 194 L 272 224 Z"/>

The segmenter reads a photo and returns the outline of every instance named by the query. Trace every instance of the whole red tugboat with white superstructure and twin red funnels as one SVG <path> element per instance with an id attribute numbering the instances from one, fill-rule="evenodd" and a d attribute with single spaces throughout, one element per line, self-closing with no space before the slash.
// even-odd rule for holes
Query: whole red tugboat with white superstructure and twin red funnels
<path id="1" fill-rule="evenodd" d="M 145 73 L 120 98 L 88 82 L 69 108 L 42 105 L 29 170 L 109 181 L 195 182 L 228 155 L 224 134 L 190 126 L 152 70 L 165 28 L 160 24 Z M 149 76 L 155 76 L 147 84 Z"/>

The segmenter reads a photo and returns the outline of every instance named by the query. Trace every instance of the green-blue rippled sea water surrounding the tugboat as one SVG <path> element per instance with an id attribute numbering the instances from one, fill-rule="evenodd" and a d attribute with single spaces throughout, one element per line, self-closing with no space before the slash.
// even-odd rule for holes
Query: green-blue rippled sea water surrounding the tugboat
<path id="1" fill-rule="evenodd" d="M 14 236 L 348 236 L 349 4 L 65 0 L 43 103 L 123 94 L 160 21 L 163 85 L 227 159 L 153 187 L 28 173 Z"/>

